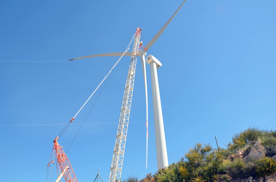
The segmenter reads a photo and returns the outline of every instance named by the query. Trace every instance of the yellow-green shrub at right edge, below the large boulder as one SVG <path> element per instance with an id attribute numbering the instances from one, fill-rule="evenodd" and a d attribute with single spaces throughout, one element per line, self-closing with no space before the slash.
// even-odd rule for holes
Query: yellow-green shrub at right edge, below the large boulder
<path id="1" fill-rule="evenodd" d="M 273 174 L 276 171 L 276 162 L 274 159 L 264 157 L 256 161 L 256 174 L 258 177 L 264 177 Z"/>

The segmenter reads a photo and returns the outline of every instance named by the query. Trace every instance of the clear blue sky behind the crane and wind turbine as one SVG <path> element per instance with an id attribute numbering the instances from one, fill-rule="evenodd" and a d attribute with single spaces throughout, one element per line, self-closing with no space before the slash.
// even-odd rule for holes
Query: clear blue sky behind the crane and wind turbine
<path id="1" fill-rule="evenodd" d="M 0 2 L 0 60 L 67 60 L 123 52 L 136 27 L 146 45 L 181 1 Z M 225 147 L 248 127 L 276 127 L 276 2 L 189 1 L 149 49 L 158 69 L 169 163 L 197 142 Z M 102 81 L 117 57 L 62 62 L 0 61 L 2 181 L 43 181 L 53 140 Z M 100 169 L 107 181 L 130 58 L 115 67 L 67 152 L 79 181 Z M 140 60 L 122 179 L 157 168 L 150 68 L 148 169 L 145 102 Z M 102 87 L 100 87 L 102 89 Z M 100 91 L 100 90 L 99 90 Z M 66 151 L 97 95 L 59 144 Z M 100 124 L 92 124 L 100 123 Z M 105 124 L 112 123 L 112 124 Z M 42 125 L 43 126 L 6 126 Z M 49 124 L 49 125 L 48 125 Z M 55 175 L 55 173 L 54 173 Z"/>

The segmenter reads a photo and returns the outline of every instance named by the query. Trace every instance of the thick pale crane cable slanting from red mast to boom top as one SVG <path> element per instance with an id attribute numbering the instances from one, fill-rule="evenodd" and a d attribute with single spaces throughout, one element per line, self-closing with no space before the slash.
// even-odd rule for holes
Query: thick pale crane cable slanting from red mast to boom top
<path id="1" fill-rule="evenodd" d="M 136 33 L 136 32 L 135 32 Z M 119 60 L 115 63 L 115 65 L 111 68 L 111 70 L 108 72 L 108 74 L 105 76 L 105 78 L 113 71 L 114 67 L 118 64 L 118 62 L 121 60 L 121 58 L 125 55 L 125 53 L 128 51 L 131 42 L 133 41 L 135 37 L 135 33 L 133 34 L 130 42 L 128 43 L 128 47 L 126 48 L 125 52 L 122 54 L 122 56 L 119 58 Z M 90 97 L 86 100 L 86 102 L 82 105 L 82 107 L 79 109 L 77 114 L 67 123 L 66 126 L 64 126 L 63 130 L 59 133 L 59 137 L 64 133 L 64 131 L 69 127 L 72 121 L 74 121 L 75 117 L 79 114 L 79 112 L 82 110 L 82 108 L 85 106 L 85 104 L 90 100 L 90 98 L 94 95 L 94 93 L 98 90 L 98 88 L 102 85 L 102 83 L 105 81 L 105 78 L 102 80 L 102 82 L 98 85 L 98 87 L 94 90 L 94 92 L 90 95 Z"/>

